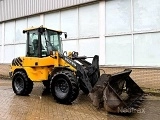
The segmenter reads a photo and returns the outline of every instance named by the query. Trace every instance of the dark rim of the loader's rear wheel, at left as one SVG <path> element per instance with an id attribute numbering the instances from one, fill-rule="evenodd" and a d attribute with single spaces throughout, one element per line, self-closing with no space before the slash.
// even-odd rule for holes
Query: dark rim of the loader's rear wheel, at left
<path id="1" fill-rule="evenodd" d="M 17 77 L 14 81 L 14 87 L 16 91 L 22 91 L 24 89 L 24 81 L 22 77 Z"/>

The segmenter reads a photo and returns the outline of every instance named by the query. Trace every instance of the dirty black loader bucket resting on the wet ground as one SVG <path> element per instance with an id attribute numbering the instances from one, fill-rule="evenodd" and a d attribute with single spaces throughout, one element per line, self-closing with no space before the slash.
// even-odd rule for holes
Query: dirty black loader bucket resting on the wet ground
<path id="1" fill-rule="evenodd" d="M 129 76 L 131 72 L 124 70 L 110 76 L 103 91 L 104 108 L 108 112 L 133 113 L 140 107 L 144 92 Z"/>

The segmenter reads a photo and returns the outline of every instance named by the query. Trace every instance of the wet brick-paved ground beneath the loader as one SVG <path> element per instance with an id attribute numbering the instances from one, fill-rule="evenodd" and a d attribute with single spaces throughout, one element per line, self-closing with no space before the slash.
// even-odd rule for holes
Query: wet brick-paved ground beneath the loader
<path id="1" fill-rule="evenodd" d="M 0 120 L 159 120 L 160 97 L 148 95 L 137 113 L 120 116 L 97 110 L 88 96 L 80 94 L 72 105 L 62 105 L 44 95 L 43 85 L 34 83 L 30 96 L 13 93 L 11 80 L 0 79 Z"/>

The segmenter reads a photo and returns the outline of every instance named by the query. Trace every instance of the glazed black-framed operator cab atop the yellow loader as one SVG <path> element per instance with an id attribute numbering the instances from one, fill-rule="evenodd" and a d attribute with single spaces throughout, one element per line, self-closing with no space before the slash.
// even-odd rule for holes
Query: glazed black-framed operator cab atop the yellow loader
<path id="1" fill-rule="evenodd" d="M 23 30 L 23 33 L 27 33 L 27 57 L 47 57 L 52 51 L 62 53 L 62 31 L 38 27 Z"/>

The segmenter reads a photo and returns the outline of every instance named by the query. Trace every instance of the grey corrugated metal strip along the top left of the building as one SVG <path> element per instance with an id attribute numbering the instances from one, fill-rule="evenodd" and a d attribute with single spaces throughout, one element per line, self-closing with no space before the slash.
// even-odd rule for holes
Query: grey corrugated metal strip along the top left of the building
<path id="1" fill-rule="evenodd" d="M 97 0 L 1 0 L 0 22 Z"/>

